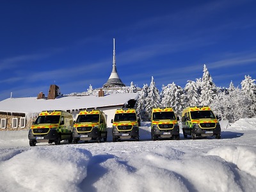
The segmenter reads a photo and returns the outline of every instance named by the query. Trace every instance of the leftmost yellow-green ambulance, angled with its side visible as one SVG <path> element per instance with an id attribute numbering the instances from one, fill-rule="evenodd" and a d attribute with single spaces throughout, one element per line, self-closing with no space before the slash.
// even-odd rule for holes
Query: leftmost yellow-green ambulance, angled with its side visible
<path id="1" fill-rule="evenodd" d="M 29 129 L 29 145 L 44 142 L 59 145 L 61 140 L 71 143 L 73 124 L 72 114 L 66 111 L 42 111 Z"/>

